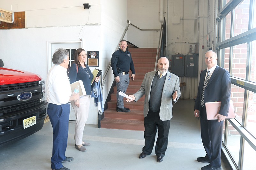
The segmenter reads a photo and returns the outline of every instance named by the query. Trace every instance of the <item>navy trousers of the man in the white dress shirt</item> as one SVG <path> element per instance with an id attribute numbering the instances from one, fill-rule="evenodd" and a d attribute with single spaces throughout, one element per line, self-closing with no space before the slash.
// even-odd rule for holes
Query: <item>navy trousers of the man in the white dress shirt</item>
<path id="1" fill-rule="evenodd" d="M 47 114 L 53 129 L 51 168 L 61 169 L 62 161 L 66 159 L 65 152 L 68 143 L 68 121 L 70 105 L 49 103 Z"/>

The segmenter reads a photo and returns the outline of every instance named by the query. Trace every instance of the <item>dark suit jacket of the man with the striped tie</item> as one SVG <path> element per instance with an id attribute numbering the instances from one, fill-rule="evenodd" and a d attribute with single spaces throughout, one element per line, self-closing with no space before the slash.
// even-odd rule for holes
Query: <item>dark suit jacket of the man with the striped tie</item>
<path id="1" fill-rule="evenodd" d="M 197 97 L 195 101 L 195 109 L 201 110 L 201 98 L 204 86 L 204 79 L 207 69 L 200 74 L 200 82 L 198 86 Z M 231 94 L 230 74 L 222 67 L 215 68 L 211 78 L 205 88 L 204 102 L 221 102 L 219 114 L 228 116 L 229 102 Z M 201 116 L 201 115 L 200 115 Z"/>

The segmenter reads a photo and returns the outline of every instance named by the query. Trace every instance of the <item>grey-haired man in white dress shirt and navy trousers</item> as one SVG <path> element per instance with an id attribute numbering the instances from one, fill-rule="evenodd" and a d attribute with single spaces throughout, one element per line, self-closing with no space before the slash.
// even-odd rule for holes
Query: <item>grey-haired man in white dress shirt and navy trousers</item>
<path id="1" fill-rule="evenodd" d="M 52 170 L 69 170 L 62 165 L 70 162 L 72 157 L 66 157 L 65 152 L 68 141 L 69 102 L 79 99 L 79 93 L 71 91 L 67 68 L 69 52 L 63 48 L 58 49 L 52 56 L 55 64 L 49 71 L 46 80 L 47 114 L 53 128 L 53 145 L 51 157 Z"/>

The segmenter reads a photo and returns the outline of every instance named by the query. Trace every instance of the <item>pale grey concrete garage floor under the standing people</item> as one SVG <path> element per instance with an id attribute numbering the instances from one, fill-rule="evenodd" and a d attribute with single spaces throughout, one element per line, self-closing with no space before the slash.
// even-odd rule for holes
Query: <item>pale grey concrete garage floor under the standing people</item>
<path id="1" fill-rule="evenodd" d="M 66 156 L 74 160 L 63 165 L 71 170 L 200 170 L 208 163 L 196 161 L 206 153 L 193 106 L 194 100 L 178 100 L 174 104 L 168 149 L 161 163 L 156 161 L 154 149 L 146 158 L 138 158 L 144 145 L 143 131 L 98 129 L 98 125 L 87 124 L 84 141 L 91 145 L 86 146 L 86 152 L 80 152 L 74 146 L 75 122 L 70 121 Z M 51 154 L 52 127 L 47 122 L 33 135 L 0 148 L 0 169 L 50 170 Z M 222 170 L 230 170 L 223 161 Z"/>

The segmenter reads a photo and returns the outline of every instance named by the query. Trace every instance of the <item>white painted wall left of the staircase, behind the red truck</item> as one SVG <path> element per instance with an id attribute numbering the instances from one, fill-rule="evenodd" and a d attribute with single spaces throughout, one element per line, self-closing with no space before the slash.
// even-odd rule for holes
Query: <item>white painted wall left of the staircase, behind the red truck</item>
<path id="1" fill-rule="evenodd" d="M 84 9 L 83 3 L 89 3 L 90 9 Z M 86 51 L 100 51 L 99 67 L 90 69 L 101 69 L 104 74 L 126 26 L 126 3 L 126 0 L 1 0 L 1 9 L 25 11 L 26 15 L 25 29 L 0 30 L 0 58 L 4 67 L 30 71 L 45 80 L 49 71 L 47 44 L 82 39 Z M 111 70 L 109 73 L 103 89 L 104 102 L 114 80 Z M 91 103 L 87 124 L 98 124 L 93 98 Z"/>

